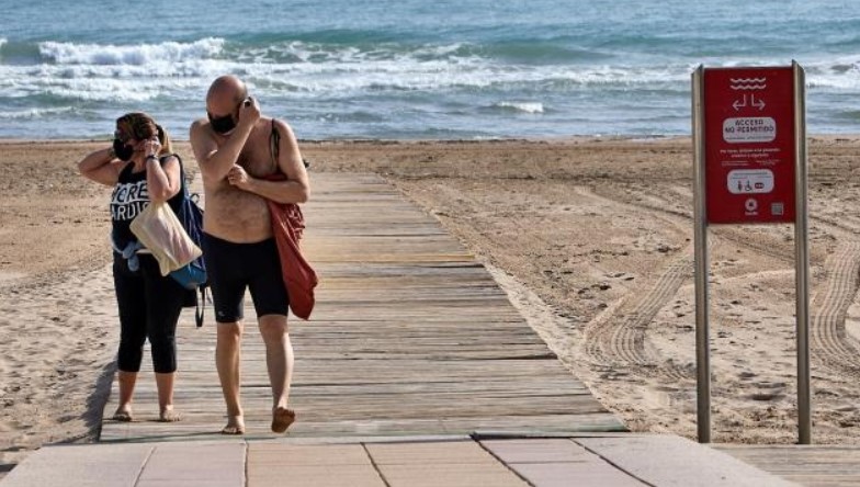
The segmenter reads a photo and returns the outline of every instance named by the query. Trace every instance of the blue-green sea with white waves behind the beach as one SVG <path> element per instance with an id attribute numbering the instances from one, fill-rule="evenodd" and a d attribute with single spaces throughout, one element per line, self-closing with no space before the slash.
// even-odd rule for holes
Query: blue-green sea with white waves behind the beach
<path id="1" fill-rule="evenodd" d="M 678 136 L 698 66 L 792 61 L 860 133 L 856 0 L 0 0 L 0 138 L 188 138 L 225 73 L 301 139 Z"/>

